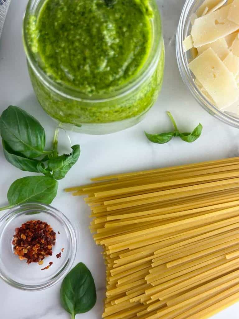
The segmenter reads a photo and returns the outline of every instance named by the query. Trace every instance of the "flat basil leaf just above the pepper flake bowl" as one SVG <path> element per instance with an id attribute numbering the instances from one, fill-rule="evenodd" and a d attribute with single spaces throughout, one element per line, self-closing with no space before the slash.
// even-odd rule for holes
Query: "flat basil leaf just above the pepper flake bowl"
<path id="1" fill-rule="evenodd" d="M 47 176 L 27 176 L 13 182 L 8 190 L 10 205 L 29 202 L 51 204 L 56 197 L 58 182 Z"/>

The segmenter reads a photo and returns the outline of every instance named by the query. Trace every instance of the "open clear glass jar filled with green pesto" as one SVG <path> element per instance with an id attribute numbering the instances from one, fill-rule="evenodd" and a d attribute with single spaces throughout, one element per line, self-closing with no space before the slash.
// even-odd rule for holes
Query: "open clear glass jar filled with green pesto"
<path id="1" fill-rule="evenodd" d="M 28 40 L 27 26 L 33 16 L 38 18 L 45 1 L 28 2 L 23 24 L 28 70 L 42 108 L 63 128 L 87 134 L 108 134 L 140 122 L 156 102 L 163 82 L 164 44 L 156 1 L 150 0 L 154 15 L 150 19 L 152 39 L 147 61 L 126 85 L 98 96 L 56 83 L 40 67 L 39 57 Z"/>

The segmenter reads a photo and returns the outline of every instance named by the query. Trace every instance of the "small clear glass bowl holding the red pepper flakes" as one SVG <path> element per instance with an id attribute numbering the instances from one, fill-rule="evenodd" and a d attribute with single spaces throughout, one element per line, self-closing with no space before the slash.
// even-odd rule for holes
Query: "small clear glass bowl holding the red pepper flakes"
<path id="1" fill-rule="evenodd" d="M 52 256 L 44 259 L 43 265 L 27 264 L 13 252 L 15 228 L 28 220 L 41 220 L 56 232 Z M 59 234 L 59 233 L 60 234 Z M 62 248 L 64 248 L 62 252 Z M 61 252 L 61 258 L 56 254 Z M 69 219 L 57 209 L 44 204 L 22 204 L 8 211 L 0 219 L 0 277 L 9 285 L 22 290 L 43 290 L 56 284 L 70 270 L 76 256 L 76 233 Z M 49 262 L 50 268 L 41 270 Z"/>

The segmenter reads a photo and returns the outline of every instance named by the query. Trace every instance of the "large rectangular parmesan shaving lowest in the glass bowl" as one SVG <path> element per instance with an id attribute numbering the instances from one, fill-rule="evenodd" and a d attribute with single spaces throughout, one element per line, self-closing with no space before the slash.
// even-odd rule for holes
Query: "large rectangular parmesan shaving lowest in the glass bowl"
<path id="1" fill-rule="evenodd" d="M 230 106 L 238 99 L 239 89 L 233 74 L 212 48 L 208 48 L 188 66 L 218 108 Z"/>

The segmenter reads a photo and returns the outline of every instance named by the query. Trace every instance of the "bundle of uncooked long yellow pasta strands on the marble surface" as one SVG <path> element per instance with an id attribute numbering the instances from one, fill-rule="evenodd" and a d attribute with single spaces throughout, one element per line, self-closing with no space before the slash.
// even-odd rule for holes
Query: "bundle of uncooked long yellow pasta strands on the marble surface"
<path id="1" fill-rule="evenodd" d="M 106 264 L 106 319 L 203 319 L 239 300 L 239 158 L 73 187 Z"/>

